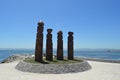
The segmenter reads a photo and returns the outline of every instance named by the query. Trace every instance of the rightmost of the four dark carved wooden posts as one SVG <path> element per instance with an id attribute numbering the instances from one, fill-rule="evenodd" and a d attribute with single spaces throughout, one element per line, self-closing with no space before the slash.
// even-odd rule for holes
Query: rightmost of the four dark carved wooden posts
<path id="1" fill-rule="evenodd" d="M 73 32 L 68 32 L 68 59 L 73 60 L 73 52 L 74 52 L 74 46 L 73 46 Z"/>

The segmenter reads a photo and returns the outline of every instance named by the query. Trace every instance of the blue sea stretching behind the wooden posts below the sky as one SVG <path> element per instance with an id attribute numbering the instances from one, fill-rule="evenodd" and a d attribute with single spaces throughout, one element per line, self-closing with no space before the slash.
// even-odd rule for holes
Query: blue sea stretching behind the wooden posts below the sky
<path id="1" fill-rule="evenodd" d="M 14 54 L 33 55 L 34 52 L 34 49 L 0 49 L 0 62 Z M 43 53 L 45 53 L 45 50 L 43 50 Z M 53 50 L 53 53 L 56 55 L 56 49 Z M 64 50 L 64 56 L 67 56 L 67 50 Z M 120 51 L 77 49 L 74 50 L 74 56 L 80 58 L 120 60 Z"/>

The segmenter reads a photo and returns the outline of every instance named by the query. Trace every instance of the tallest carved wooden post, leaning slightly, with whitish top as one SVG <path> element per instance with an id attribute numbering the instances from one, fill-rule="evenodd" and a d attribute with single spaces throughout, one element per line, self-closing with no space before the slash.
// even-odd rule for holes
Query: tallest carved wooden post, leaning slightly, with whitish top
<path id="1" fill-rule="evenodd" d="M 42 21 L 38 22 L 37 36 L 36 36 L 36 47 L 35 47 L 35 61 L 41 62 L 43 59 L 43 29 L 44 23 Z"/>

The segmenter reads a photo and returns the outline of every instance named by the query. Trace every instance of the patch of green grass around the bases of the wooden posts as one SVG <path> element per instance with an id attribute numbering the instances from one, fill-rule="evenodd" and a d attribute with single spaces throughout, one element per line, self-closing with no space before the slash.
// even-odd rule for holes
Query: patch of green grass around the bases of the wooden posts
<path id="1" fill-rule="evenodd" d="M 34 58 L 26 59 L 24 60 L 25 62 L 28 63 L 37 63 L 37 64 L 71 64 L 71 63 L 78 63 L 82 62 L 83 60 L 80 59 L 74 59 L 74 60 L 57 60 L 56 58 L 53 59 L 53 61 L 47 61 L 45 58 L 41 62 L 36 62 Z"/>

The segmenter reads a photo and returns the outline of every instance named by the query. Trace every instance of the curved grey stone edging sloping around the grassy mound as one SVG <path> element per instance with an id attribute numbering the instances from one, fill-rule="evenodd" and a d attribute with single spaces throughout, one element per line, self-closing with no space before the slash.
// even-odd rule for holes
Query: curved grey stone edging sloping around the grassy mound
<path id="1" fill-rule="evenodd" d="M 87 61 L 73 64 L 34 64 L 21 61 L 15 68 L 24 72 L 61 74 L 83 72 L 91 69 L 91 66 Z"/>

